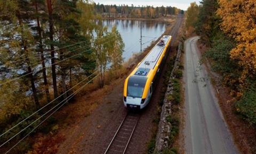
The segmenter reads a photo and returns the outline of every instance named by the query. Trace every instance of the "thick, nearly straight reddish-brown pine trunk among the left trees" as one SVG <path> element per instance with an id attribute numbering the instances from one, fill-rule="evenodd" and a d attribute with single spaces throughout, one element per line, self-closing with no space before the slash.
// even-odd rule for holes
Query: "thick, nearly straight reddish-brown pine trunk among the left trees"
<path id="1" fill-rule="evenodd" d="M 47 1 L 47 8 L 48 8 L 48 18 L 49 18 L 49 37 L 51 40 L 51 64 L 52 64 L 52 84 L 53 84 L 53 92 L 54 92 L 54 98 L 58 97 L 58 90 L 57 90 L 57 79 L 56 79 L 56 70 L 55 70 L 55 58 L 54 58 L 54 46 L 52 44 L 53 42 L 53 21 L 52 21 L 52 1 Z"/>

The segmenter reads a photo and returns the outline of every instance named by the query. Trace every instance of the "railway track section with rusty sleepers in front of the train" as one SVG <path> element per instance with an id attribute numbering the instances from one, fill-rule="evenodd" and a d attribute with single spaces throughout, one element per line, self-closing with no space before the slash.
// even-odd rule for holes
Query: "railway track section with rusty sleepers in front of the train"
<path id="1" fill-rule="evenodd" d="M 105 151 L 106 153 L 125 153 L 135 127 L 138 124 L 140 119 L 139 114 L 127 113 L 124 117 L 122 123 L 119 125 L 113 139 L 108 145 L 108 148 Z"/>

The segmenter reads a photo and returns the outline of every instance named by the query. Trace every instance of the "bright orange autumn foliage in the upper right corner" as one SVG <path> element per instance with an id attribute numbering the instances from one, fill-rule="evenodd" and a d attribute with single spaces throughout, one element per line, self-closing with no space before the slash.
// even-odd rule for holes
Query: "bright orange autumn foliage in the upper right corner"
<path id="1" fill-rule="evenodd" d="M 242 79 L 256 74 L 256 0 L 219 0 L 217 14 L 221 28 L 233 37 L 237 46 L 230 51 L 244 68 Z"/>

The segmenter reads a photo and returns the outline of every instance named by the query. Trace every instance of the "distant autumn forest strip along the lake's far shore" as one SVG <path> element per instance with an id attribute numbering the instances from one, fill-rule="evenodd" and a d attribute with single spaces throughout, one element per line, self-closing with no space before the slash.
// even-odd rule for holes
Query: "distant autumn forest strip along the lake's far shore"
<path id="1" fill-rule="evenodd" d="M 177 7 L 172 6 L 128 6 L 128 5 L 103 5 L 95 4 L 94 9 L 97 13 L 103 17 L 108 18 L 147 18 L 155 19 L 160 17 L 166 17 L 170 15 L 183 14 L 184 11 Z"/>

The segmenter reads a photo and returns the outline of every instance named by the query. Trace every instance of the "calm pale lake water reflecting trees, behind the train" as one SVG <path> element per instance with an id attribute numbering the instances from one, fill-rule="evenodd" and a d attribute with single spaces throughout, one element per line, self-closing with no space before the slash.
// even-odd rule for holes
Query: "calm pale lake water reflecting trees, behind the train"
<path id="1" fill-rule="evenodd" d="M 107 25 L 108 30 L 116 25 L 120 32 L 125 48 L 123 53 L 124 61 L 129 59 L 133 53 L 140 52 L 140 25 L 142 25 L 142 50 L 150 45 L 151 41 L 160 37 L 166 24 L 156 21 L 139 21 L 139 20 L 103 20 L 103 25 Z"/>

